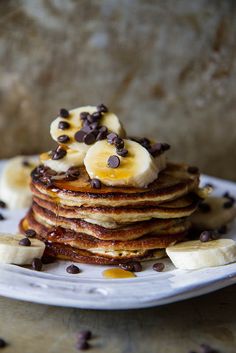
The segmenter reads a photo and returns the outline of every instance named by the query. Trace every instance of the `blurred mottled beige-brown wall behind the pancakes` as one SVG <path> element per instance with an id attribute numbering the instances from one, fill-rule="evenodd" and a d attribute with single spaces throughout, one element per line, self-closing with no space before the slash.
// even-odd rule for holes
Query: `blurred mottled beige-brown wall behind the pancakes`
<path id="1" fill-rule="evenodd" d="M 236 2 L 0 2 L 0 157 L 51 146 L 60 107 L 106 103 L 132 134 L 236 180 Z"/>

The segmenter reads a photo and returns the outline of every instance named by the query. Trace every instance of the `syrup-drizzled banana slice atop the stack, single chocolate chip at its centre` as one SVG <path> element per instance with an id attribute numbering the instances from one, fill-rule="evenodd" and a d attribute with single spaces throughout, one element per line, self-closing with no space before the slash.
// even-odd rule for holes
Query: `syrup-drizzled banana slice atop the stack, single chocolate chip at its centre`
<path id="1" fill-rule="evenodd" d="M 126 157 L 120 158 L 117 168 L 108 167 L 108 159 L 116 154 L 116 149 L 107 141 L 98 141 L 88 150 L 84 164 L 90 178 L 98 178 L 105 185 L 146 187 L 158 176 L 159 167 L 150 153 L 139 143 L 124 140 L 128 150 Z"/>

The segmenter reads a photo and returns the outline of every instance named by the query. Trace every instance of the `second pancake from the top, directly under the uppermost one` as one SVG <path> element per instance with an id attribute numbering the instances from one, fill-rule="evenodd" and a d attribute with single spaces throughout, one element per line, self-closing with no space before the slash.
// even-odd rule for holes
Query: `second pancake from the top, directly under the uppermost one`
<path id="1" fill-rule="evenodd" d="M 129 223 L 145 221 L 151 218 L 182 218 L 190 216 L 198 206 L 195 195 L 183 196 L 177 200 L 159 204 L 158 206 L 128 208 L 128 207 L 69 207 L 56 204 L 53 199 L 43 195 L 45 199 L 33 197 L 33 201 L 56 215 L 65 218 L 94 219 L 99 222 Z M 47 200 L 46 200 L 47 198 Z"/>

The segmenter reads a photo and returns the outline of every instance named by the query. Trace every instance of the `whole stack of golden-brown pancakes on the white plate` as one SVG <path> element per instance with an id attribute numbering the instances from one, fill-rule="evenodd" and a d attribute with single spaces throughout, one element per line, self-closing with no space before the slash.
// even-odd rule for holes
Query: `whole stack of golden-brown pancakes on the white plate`
<path id="1" fill-rule="evenodd" d="M 32 173 L 32 207 L 21 230 L 34 229 L 46 254 L 91 264 L 156 259 L 183 240 L 199 199 L 199 174 L 168 163 L 147 188 L 92 188 L 85 167 L 78 179 L 39 166 Z"/>

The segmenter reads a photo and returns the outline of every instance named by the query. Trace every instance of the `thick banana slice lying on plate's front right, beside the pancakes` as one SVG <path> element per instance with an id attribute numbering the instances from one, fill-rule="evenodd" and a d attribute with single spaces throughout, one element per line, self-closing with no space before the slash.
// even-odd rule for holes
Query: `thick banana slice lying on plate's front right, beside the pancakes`
<path id="1" fill-rule="evenodd" d="M 181 269 L 222 266 L 236 261 L 236 242 L 232 239 L 192 240 L 169 246 L 166 252 L 175 267 Z"/>

